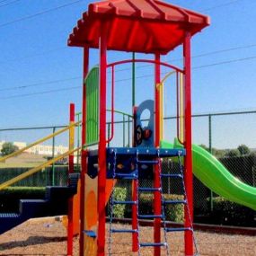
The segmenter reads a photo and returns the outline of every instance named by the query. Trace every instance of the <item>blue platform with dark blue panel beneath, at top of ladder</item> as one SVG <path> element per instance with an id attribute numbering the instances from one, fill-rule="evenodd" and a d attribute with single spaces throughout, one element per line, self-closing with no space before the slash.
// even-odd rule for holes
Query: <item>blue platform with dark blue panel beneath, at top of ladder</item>
<path id="1" fill-rule="evenodd" d="M 135 171 L 138 171 L 138 179 L 153 179 L 153 167 L 160 161 L 157 159 L 158 157 L 168 158 L 185 154 L 186 151 L 182 148 L 108 147 L 107 179 L 126 179 L 130 176 L 129 174 Z M 115 175 L 115 173 L 118 175 Z M 91 178 L 98 175 L 98 150 L 89 151 L 88 153 L 87 174 Z"/>

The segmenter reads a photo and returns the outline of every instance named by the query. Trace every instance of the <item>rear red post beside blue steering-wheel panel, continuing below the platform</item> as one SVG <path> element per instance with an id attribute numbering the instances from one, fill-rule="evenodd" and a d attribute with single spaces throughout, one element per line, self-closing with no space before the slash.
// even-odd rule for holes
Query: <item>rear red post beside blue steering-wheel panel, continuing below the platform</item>
<path id="1" fill-rule="evenodd" d="M 136 130 L 136 115 L 137 115 L 137 107 L 133 106 L 133 117 L 134 117 L 134 126 L 133 126 L 133 141 L 132 141 L 132 146 L 136 146 L 135 143 L 135 130 Z M 133 180 L 132 181 L 132 200 L 138 202 L 137 198 L 137 181 Z M 132 229 L 137 229 L 138 225 L 138 219 L 137 219 L 137 204 L 132 205 Z M 138 251 L 138 234 L 133 233 L 132 234 L 132 252 L 137 252 Z"/>

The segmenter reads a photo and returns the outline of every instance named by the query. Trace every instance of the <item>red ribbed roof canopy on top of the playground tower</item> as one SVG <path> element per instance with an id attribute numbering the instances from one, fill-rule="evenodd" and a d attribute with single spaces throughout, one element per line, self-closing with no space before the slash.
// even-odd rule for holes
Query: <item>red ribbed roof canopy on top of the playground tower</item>
<path id="1" fill-rule="evenodd" d="M 97 49 L 104 30 L 108 49 L 166 54 L 207 25 L 206 15 L 163 1 L 108 0 L 89 4 L 67 43 Z"/>

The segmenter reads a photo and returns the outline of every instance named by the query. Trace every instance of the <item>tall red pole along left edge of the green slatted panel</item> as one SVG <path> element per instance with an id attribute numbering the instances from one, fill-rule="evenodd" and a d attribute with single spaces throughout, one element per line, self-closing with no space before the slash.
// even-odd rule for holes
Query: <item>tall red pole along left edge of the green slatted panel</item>
<path id="1" fill-rule="evenodd" d="M 83 70 L 83 99 L 82 99 L 82 154 L 81 154 L 81 191 L 80 191 L 80 237 L 79 237 L 79 255 L 84 255 L 84 189 L 85 189 L 85 173 L 87 172 L 86 165 L 86 150 L 83 148 L 86 143 L 86 87 L 84 79 L 89 70 L 89 48 L 84 48 L 84 70 Z"/>

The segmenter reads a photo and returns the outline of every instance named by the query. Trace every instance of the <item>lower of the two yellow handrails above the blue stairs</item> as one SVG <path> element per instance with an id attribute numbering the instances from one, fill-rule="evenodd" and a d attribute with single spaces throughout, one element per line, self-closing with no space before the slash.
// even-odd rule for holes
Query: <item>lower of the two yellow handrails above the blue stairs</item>
<path id="1" fill-rule="evenodd" d="M 3 190 L 4 188 L 10 186 L 10 185 L 13 185 L 13 183 L 17 182 L 17 181 L 22 181 L 23 179 L 31 176 L 31 174 L 34 174 L 36 172 L 39 172 L 41 169 L 51 165 L 52 163 L 55 163 L 57 162 L 58 160 L 64 158 L 65 156 L 67 156 L 68 154 L 73 154 L 75 153 L 76 151 L 80 150 L 81 147 L 76 147 L 75 149 L 71 149 L 71 150 L 68 150 L 66 153 L 64 154 L 59 154 L 57 157 L 49 160 L 48 162 L 46 163 L 42 163 L 40 164 L 39 166 L 37 167 L 34 167 L 32 168 L 31 170 L 27 171 L 27 172 L 24 172 L 16 177 L 14 177 L 13 179 L 9 180 L 9 181 L 5 181 L 4 183 L 0 184 L 0 190 Z"/>

